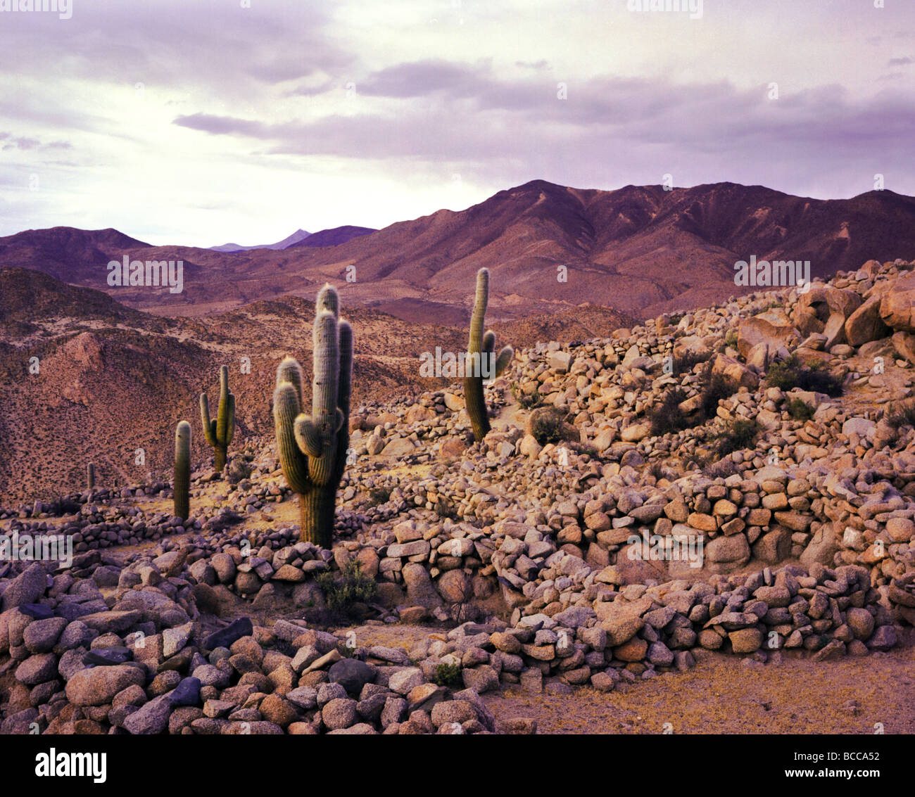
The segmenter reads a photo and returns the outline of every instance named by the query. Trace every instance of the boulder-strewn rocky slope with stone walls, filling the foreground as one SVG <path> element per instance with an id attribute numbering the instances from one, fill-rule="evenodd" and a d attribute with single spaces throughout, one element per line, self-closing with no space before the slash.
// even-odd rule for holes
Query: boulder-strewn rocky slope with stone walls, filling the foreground
<path id="1" fill-rule="evenodd" d="M 185 523 L 7 507 L 77 555 L 0 565 L 2 731 L 910 732 L 913 265 L 522 349 L 480 443 L 457 386 L 365 404 L 332 550 L 269 438 Z"/>

